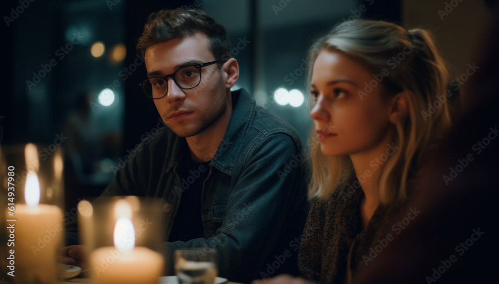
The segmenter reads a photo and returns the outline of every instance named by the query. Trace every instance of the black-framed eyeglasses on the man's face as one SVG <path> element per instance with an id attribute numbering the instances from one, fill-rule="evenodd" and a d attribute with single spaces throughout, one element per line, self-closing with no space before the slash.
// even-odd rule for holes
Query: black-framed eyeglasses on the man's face
<path id="1" fill-rule="evenodd" d="M 162 98 L 166 95 L 168 92 L 168 78 L 170 77 L 180 89 L 194 89 L 201 83 L 201 68 L 223 61 L 224 60 L 216 60 L 182 67 L 173 74 L 167 76 L 149 77 L 140 85 L 142 86 L 144 94 L 152 99 Z"/>

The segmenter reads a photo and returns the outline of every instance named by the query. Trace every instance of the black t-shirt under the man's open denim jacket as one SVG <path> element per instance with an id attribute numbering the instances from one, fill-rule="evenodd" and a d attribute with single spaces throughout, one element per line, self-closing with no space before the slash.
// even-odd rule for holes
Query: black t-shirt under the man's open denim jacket
<path id="1" fill-rule="evenodd" d="M 178 166 L 178 174 L 182 193 L 180 204 L 173 222 L 169 242 L 187 242 L 204 237 L 203 221 L 201 220 L 201 193 L 203 183 L 210 173 L 210 161 L 195 163 L 190 153 Z"/>

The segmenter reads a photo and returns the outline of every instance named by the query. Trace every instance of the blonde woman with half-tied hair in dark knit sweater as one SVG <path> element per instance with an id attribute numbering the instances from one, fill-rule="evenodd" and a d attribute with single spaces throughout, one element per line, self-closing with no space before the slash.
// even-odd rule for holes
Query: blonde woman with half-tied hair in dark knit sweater
<path id="1" fill-rule="evenodd" d="M 337 26 L 308 62 L 312 207 L 298 267 L 306 281 L 350 283 L 418 215 L 391 220 L 450 127 L 448 71 L 428 31 L 371 20 Z"/>

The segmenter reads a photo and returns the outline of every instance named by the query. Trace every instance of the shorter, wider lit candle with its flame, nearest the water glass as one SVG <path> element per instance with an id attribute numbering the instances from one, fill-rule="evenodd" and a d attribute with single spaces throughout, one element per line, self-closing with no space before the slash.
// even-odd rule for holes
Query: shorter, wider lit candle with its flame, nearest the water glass
<path id="1" fill-rule="evenodd" d="M 119 200 L 115 210 L 121 216 L 114 226 L 114 247 L 98 248 L 90 254 L 94 284 L 159 284 L 163 257 L 149 248 L 135 247 L 131 209 L 126 201 Z"/>

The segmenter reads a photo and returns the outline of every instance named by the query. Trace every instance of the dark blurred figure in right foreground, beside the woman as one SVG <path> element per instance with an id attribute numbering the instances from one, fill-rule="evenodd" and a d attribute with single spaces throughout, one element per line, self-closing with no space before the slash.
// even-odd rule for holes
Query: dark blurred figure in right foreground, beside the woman
<path id="1" fill-rule="evenodd" d="M 497 283 L 499 5 L 483 30 L 463 114 L 432 153 L 410 207 L 421 214 L 354 283 Z M 401 215 L 393 222 L 400 221 Z"/>

